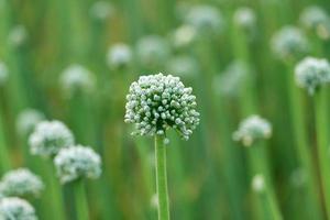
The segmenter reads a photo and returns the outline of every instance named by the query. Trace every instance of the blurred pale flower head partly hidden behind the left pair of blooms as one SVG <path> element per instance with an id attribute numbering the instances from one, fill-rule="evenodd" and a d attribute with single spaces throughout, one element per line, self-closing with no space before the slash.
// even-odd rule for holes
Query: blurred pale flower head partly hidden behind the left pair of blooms
<path id="1" fill-rule="evenodd" d="M 45 116 L 35 109 L 23 110 L 16 119 L 16 131 L 24 136 L 33 132 L 35 125 L 45 120 Z"/>

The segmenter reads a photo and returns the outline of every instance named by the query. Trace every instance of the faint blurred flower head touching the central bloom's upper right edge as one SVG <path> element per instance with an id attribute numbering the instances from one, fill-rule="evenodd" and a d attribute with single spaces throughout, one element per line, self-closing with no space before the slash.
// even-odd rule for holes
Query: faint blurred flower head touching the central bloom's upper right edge
<path id="1" fill-rule="evenodd" d="M 183 79 L 194 79 L 199 73 L 198 62 L 188 55 L 172 57 L 166 64 L 166 69 Z"/>

